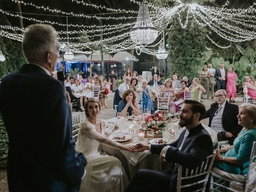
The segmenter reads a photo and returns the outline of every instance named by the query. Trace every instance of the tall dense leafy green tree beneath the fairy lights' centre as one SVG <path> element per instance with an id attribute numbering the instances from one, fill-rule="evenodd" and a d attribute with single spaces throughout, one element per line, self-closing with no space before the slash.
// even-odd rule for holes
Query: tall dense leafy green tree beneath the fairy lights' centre
<path id="1" fill-rule="evenodd" d="M 188 76 L 188 79 L 198 77 L 198 58 L 202 58 L 206 51 L 206 30 L 192 19 L 192 15 L 185 10 L 180 14 L 182 23 L 188 18 L 186 28 L 182 28 L 178 15 L 173 17 L 172 27 L 168 33 L 169 58 L 172 66 L 172 74 L 178 77 Z"/>

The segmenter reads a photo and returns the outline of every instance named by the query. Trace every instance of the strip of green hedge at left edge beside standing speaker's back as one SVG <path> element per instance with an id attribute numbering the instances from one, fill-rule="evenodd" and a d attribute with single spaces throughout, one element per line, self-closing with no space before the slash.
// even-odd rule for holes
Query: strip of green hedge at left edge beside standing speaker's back
<path id="1" fill-rule="evenodd" d="M 0 162 L 7 159 L 8 144 L 9 144 L 8 135 L 7 135 L 7 132 L 6 132 L 6 128 L 4 126 L 2 116 L 0 114 Z M 0 168 L 2 168 L 2 166 L 6 166 L 6 165 L 3 165 L 1 163 Z"/>

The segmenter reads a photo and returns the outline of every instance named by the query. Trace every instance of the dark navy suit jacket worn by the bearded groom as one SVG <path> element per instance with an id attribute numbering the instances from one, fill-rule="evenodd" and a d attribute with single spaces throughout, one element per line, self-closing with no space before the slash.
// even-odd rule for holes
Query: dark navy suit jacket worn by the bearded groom
<path id="1" fill-rule="evenodd" d="M 178 165 L 184 166 L 184 168 L 193 169 L 202 164 L 206 157 L 211 155 L 213 152 L 212 139 L 208 132 L 203 128 L 201 124 L 190 129 L 189 135 L 184 141 L 181 150 L 178 150 L 184 139 L 184 130 L 178 140 L 173 142 L 168 148 L 166 153 L 166 162 L 174 162 L 172 170 L 170 170 L 170 191 L 176 191 L 177 178 L 178 178 Z M 151 145 L 152 154 L 160 154 L 162 148 L 166 144 L 162 145 Z M 185 170 L 185 169 L 183 169 Z M 192 179 L 195 182 L 195 179 Z M 192 181 L 190 179 L 190 182 Z M 195 186 L 196 188 L 196 186 Z M 186 188 L 182 191 L 192 191 L 194 188 Z"/>

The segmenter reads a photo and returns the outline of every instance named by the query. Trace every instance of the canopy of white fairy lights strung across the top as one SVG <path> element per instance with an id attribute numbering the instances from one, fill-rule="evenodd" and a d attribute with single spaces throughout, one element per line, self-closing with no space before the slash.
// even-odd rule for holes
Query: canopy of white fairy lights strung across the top
<path id="1" fill-rule="evenodd" d="M 141 2 L 136 0 L 130 0 L 131 2 L 140 5 Z M 130 29 L 134 26 L 137 11 L 134 10 L 125 10 L 125 9 L 114 9 L 107 8 L 102 5 L 88 4 L 82 0 L 72 0 L 73 3 L 80 4 L 82 6 L 90 6 L 98 10 L 105 10 L 109 13 L 102 15 L 86 15 L 74 12 L 65 12 L 63 10 L 50 8 L 48 6 L 40 6 L 32 4 L 31 2 L 23 2 L 20 0 L 12 0 L 12 2 L 23 4 L 25 6 L 31 6 L 36 9 L 40 9 L 44 12 L 52 12 L 56 16 L 66 16 L 66 17 L 79 17 L 85 19 L 101 19 L 105 23 L 108 20 L 112 22 L 115 21 L 116 24 L 105 24 L 105 25 L 83 25 L 68 22 L 63 24 L 53 20 L 40 20 L 38 18 L 26 17 L 23 16 L 26 13 L 22 13 L 22 16 L 18 13 L 8 12 L 0 9 L 0 13 L 5 14 L 6 16 L 14 18 L 22 18 L 28 20 L 31 23 L 45 23 L 51 24 L 53 26 L 62 26 L 65 28 L 70 28 L 68 31 L 61 30 L 57 31 L 60 36 L 60 42 L 68 42 L 68 46 L 74 53 L 84 53 L 91 54 L 90 48 L 105 43 L 104 48 L 110 53 L 116 53 L 122 50 L 135 49 L 137 54 L 141 52 L 147 54 L 156 54 L 156 49 L 158 45 L 162 42 L 161 34 L 163 30 L 163 18 L 166 18 L 166 26 L 171 26 L 172 18 L 175 14 L 178 16 L 178 22 L 182 28 L 192 27 L 188 25 L 188 20 L 192 19 L 194 22 L 198 23 L 200 26 L 211 30 L 216 33 L 221 38 L 228 40 L 229 42 L 242 42 L 256 39 L 256 3 L 246 9 L 228 9 L 229 1 L 227 1 L 222 8 L 202 6 L 199 4 L 187 4 L 187 3 L 178 3 L 173 7 L 158 7 L 154 6 L 152 3 L 148 3 L 150 8 L 150 17 L 152 19 L 153 25 L 158 28 L 158 39 L 152 44 L 148 45 L 137 45 L 130 38 Z M 122 14 L 120 17 L 108 16 L 108 14 Z M 37 14 L 38 15 L 38 14 Z M 40 15 L 40 14 L 39 14 Z M 123 16 L 126 15 L 126 16 Z M 181 16 L 183 15 L 183 16 Z M 184 15 L 186 15 L 184 17 Z M 44 17 L 45 18 L 45 17 Z M 74 21 L 74 19 L 72 19 Z M 119 22 L 118 22 L 119 21 Z M 98 22 L 98 21 L 97 21 Z M 95 22 L 96 23 L 96 22 Z M 193 22 L 192 22 L 193 25 Z M 0 25 L 0 36 L 4 36 L 13 40 L 22 41 L 22 32 L 25 28 L 19 28 L 16 26 L 4 26 Z M 103 40 L 100 40 L 100 32 L 102 31 Z M 69 35 L 67 37 L 67 34 Z M 166 32 L 168 35 L 168 32 Z M 86 38 L 91 39 L 90 41 L 85 42 Z M 206 34 L 206 38 L 212 44 L 220 48 L 229 48 L 231 43 L 228 46 L 220 45 L 216 43 L 210 34 Z M 67 43 L 66 43 L 67 44 Z M 62 46 L 65 51 L 65 46 Z M 169 46 L 167 46 L 171 49 Z"/>

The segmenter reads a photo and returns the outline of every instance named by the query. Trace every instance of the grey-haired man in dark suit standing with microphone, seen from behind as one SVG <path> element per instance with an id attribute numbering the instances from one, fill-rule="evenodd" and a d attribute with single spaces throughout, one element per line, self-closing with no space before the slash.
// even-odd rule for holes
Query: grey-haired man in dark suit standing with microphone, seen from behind
<path id="1" fill-rule="evenodd" d="M 68 96 L 51 76 L 59 56 L 57 37 L 50 25 L 28 26 L 22 51 L 29 64 L 0 85 L 10 192 L 78 192 L 84 175 L 86 160 L 74 150 Z"/>

